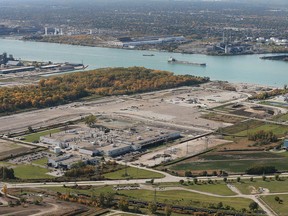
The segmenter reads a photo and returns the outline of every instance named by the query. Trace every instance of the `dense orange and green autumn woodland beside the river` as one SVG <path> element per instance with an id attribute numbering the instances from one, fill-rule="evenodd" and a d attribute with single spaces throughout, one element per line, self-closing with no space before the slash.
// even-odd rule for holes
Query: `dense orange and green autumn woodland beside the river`
<path id="1" fill-rule="evenodd" d="M 56 106 L 93 94 L 133 94 L 208 81 L 208 77 L 173 75 L 143 67 L 97 69 L 42 79 L 37 85 L 0 88 L 0 113 Z"/>

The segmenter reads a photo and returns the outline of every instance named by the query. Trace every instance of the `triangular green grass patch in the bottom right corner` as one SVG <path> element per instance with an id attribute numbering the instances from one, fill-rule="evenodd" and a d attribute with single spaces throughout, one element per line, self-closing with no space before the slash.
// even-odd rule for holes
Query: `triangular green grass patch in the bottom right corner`
<path id="1" fill-rule="evenodd" d="M 275 196 L 261 197 L 279 216 L 286 216 L 288 212 L 288 195 L 278 195 L 283 200 L 282 204 L 275 201 Z"/>

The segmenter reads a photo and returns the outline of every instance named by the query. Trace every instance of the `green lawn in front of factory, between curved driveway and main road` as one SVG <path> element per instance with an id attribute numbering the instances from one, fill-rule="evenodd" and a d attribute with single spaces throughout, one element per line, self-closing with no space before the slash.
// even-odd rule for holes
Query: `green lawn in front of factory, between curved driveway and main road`
<path id="1" fill-rule="evenodd" d="M 125 169 L 121 169 L 115 172 L 106 173 L 104 174 L 105 178 L 108 179 L 126 179 L 126 178 L 164 178 L 164 175 L 157 173 L 157 172 L 151 172 L 144 169 L 137 169 L 134 167 L 127 167 L 127 176 L 125 176 Z"/>

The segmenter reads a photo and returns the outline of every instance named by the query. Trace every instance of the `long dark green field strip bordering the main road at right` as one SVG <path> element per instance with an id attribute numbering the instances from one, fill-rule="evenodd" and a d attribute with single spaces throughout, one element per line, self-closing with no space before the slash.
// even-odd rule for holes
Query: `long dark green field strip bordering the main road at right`
<path id="1" fill-rule="evenodd" d="M 279 171 L 288 170 L 287 158 L 281 159 L 270 159 L 270 160 L 223 160 L 223 161 L 205 161 L 205 162 L 190 162 L 190 163 L 179 163 L 172 165 L 169 169 L 174 171 L 180 170 L 225 170 L 229 173 L 244 173 L 249 167 L 253 166 L 275 166 Z"/>

